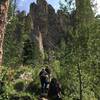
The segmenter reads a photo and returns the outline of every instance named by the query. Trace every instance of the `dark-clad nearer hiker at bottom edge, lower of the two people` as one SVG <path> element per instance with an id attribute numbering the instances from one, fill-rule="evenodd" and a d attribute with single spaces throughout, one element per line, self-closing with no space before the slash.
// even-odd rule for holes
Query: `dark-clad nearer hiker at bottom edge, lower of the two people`
<path id="1" fill-rule="evenodd" d="M 61 99 L 61 85 L 56 78 L 52 78 L 48 90 L 48 97 L 52 100 L 62 100 Z"/>

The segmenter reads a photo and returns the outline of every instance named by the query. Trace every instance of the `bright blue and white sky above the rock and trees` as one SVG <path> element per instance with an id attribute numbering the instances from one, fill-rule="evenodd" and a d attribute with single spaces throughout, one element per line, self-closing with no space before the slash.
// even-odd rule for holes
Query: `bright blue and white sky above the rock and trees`
<path id="1" fill-rule="evenodd" d="M 59 9 L 59 1 L 60 0 L 47 0 L 49 4 L 51 4 L 55 10 Z M 63 1 L 63 0 L 61 0 Z M 18 9 L 25 10 L 26 12 L 29 12 L 29 5 L 32 2 L 36 2 L 36 0 L 17 0 Z M 97 2 L 97 14 L 100 14 L 100 0 L 96 0 Z"/>

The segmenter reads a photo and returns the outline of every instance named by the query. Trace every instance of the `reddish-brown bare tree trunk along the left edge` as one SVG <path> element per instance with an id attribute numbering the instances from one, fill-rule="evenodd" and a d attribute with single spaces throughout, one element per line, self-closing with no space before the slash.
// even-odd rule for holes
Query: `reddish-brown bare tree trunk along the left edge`
<path id="1" fill-rule="evenodd" d="M 3 41 L 7 22 L 9 0 L 0 0 L 0 66 L 3 59 Z"/>

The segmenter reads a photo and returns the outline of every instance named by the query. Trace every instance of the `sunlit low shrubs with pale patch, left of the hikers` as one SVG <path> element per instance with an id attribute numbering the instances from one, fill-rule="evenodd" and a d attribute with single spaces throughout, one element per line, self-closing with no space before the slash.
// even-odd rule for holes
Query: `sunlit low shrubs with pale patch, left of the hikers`
<path id="1" fill-rule="evenodd" d="M 40 66 L 40 65 L 39 65 Z M 31 66 L 20 68 L 4 68 L 0 75 L 4 77 L 0 83 L 0 99 L 14 100 L 14 98 L 37 100 L 40 91 L 40 67 Z M 2 86 L 1 86 L 2 85 Z M 26 99 L 25 99 L 26 100 Z"/>

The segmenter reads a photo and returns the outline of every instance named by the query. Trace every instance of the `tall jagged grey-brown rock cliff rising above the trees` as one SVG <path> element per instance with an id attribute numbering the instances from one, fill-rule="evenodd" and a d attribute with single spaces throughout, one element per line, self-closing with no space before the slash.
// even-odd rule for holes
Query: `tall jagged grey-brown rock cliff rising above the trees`
<path id="1" fill-rule="evenodd" d="M 60 10 L 56 13 L 46 0 L 37 0 L 36 3 L 30 5 L 30 17 L 32 36 L 39 37 L 39 32 L 41 32 L 43 47 L 55 49 L 66 31 L 68 16 Z"/>

